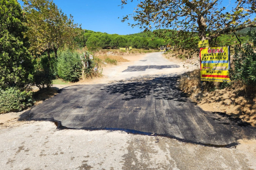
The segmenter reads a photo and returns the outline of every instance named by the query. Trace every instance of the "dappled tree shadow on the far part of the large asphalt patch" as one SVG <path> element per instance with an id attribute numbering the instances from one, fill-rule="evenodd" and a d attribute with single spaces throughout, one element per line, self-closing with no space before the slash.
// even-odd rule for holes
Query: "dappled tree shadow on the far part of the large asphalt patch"
<path id="1" fill-rule="evenodd" d="M 137 82 L 119 82 L 101 88 L 110 94 L 124 94 L 123 100 L 146 98 L 154 96 L 155 99 L 166 99 L 187 102 L 186 94 L 178 89 L 178 76 L 155 77 L 154 79 L 137 79 Z"/>

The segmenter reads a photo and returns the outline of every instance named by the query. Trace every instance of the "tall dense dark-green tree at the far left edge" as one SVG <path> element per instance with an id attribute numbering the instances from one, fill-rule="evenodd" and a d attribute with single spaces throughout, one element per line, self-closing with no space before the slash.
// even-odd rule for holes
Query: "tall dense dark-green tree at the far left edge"
<path id="1" fill-rule="evenodd" d="M 0 0 L 0 88 L 23 88 L 33 79 L 25 14 L 16 0 Z"/>

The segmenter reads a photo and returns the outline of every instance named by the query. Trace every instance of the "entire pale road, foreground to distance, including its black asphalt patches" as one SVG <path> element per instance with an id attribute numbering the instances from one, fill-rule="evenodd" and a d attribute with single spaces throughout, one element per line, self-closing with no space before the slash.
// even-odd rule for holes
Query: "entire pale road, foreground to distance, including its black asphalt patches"
<path id="1" fill-rule="evenodd" d="M 255 129 L 190 103 L 176 89 L 176 76 L 183 71 L 182 64 L 160 53 L 148 54 L 108 67 L 104 78 L 90 82 L 94 85 L 64 88 L 21 115 L 34 121 L 1 125 L 0 166 L 256 169 Z"/>

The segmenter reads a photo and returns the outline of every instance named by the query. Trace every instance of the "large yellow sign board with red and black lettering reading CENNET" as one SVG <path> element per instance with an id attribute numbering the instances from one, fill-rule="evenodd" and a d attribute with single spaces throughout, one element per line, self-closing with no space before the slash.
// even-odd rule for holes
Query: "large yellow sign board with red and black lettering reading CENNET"
<path id="1" fill-rule="evenodd" d="M 230 81 L 229 47 L 200 48 L 201 81 Z"/>

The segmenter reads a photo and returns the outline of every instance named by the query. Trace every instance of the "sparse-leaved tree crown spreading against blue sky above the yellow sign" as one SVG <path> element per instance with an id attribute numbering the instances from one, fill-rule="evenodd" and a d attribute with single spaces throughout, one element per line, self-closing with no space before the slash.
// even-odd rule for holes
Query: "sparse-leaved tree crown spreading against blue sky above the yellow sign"
<path id="1" fill-rule="evenodd" d="M 133 0 L 131 0 L 133 1 Z M 121 0 L 122 6 L 128 0 Z M 226 9 L 221 0 L 147 0 L 141 1 L 132 18 L 145 30 L 171 28 L 198 32 L 200 40 L 232 33 L 256 25 L 255 0 L 236 0 Z M 129 20 L 124 16 L 122 21 Z"/>

